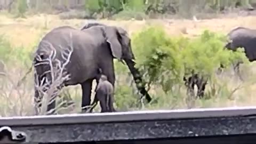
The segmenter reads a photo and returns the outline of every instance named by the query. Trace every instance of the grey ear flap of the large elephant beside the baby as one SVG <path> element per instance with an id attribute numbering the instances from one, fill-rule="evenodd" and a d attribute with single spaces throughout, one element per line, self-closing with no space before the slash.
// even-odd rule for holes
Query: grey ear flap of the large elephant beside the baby
<path id="1" fill-rule="evenodd" d="M 119 42 L 118 38 L 120 35 L 116 27 L 108 26 L 105 27 L 106 40 L 110 45 L 111 52 L 113 57 L 121 60 L 122 58 L 122 44 Z"/>

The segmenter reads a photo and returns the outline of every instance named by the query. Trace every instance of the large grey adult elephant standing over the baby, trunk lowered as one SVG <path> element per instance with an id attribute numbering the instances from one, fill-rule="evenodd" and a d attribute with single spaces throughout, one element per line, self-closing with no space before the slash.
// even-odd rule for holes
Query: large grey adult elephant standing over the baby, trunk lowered
<path id="1" fill-rule="evenodd" d="M 72 37 L 70 37 L 70 34 Z M 39 65 L 39 59 L 50 57 L 49 46 L 56 50 L 55 59 L 63 62 L 60 54 L 60 46 L 65 49 L 70 47 L 70 38 L 73 43 L 73 53 L 70 61 L 66 66 L 66 71 L 70 74 L 70 79 L 63 82 L 63 85 L 82 86 L 82 107 L 90 106 L 92 81 L 97 76 L 98 68 L 102 69 L 102 73 L 108 77 L 111 84 L 115 84 L 115 71 L 113 59 L 116 58 L 125 61 L 129 67 L 137 87 L 142 95 L 146 96 L 148 101 L 151 100 L 144 86 L 141 86 L 141 76 L 139 71 L 134 67 L 134 55 L 131 49 L 131 39 L 127 36 L 124 29 L 114 26 L 87 25 L 82 30 L 75 29 L 69 26 L 54 28 L 47 33 L 39 43 L 35 52 L 34 67 L 39 75 L 35 77 L 35 82 L 42 82 L 44 78 L 50 79 L 51 75 L 46 73 L 49 66 Z M 45 42 L 50 45 L 45 45 Z M 45 91 L 45 90 L 44 90 Z M 39 98 L 39 100 L 38 100 Z M 41 101 L 39 92 L 35 90 L 35 102 Z M 37 100 L 36 100 L 37 99 Z M 38 105 L 40 107 L 40 105 Z M 55 101 L 47 106 L 47 111 L 55 108 Z M 87 110 L 87 108 L 85 108 Z"/>

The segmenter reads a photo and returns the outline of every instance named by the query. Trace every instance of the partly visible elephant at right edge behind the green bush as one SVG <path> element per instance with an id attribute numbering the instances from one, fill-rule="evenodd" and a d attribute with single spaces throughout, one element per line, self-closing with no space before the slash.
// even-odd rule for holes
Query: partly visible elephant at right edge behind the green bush
<path id="1" fill-rule="evenodd" d="M 238 47 L 244 47 L 244 52 L 246 57 L 250 62 L 256 60 L 256 30 L 237 27 L 232 29 L 228 33 L 229 42 L 226 44 L 225 48 L 236 51 Z M 234 66 L 234 70 L 238 73 L 238 76 L 242 79 L 239 72 L 239 64 L 242 62 L 237 62 Z"/>

